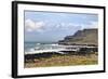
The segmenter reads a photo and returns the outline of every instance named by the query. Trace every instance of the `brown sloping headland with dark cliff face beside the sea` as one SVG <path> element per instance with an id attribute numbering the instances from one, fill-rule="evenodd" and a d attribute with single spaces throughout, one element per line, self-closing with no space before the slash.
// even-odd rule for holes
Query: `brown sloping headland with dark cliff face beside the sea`
<path id="1" fill-rule="evenodd" d="M 78 30 L 72 36 L 66 36 L 59 44 L 94 44 L 98 45 L 98 30 L 96 28 Z"/>

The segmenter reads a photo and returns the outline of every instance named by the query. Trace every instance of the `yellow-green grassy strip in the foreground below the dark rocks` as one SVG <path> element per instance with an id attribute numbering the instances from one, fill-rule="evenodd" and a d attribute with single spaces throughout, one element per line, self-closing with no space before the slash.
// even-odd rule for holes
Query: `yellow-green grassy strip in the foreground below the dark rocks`
<path id="1" fill-rule="evenodd" d="M 49 58 L 35 58 L 35 62 L 25 63 L 25 68 L 52 67 L 52 66 L 76 66 L 98 64 L 97 53 L 89 55 L 52 55 Z"/>

